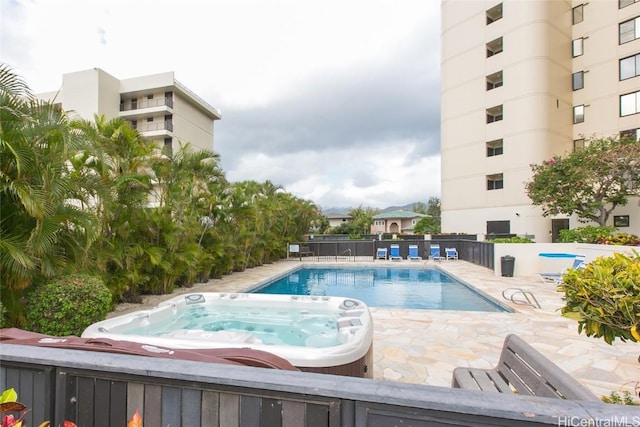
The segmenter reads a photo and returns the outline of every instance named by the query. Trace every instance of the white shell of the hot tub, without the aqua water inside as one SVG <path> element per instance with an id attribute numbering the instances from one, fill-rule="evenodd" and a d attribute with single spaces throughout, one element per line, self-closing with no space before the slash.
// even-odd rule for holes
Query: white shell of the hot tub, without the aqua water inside
<path id="1" fill-rule="evenodd" d="M 180 313 L 194 307 L 216 313 L 218 320 L 226 314 L 237 320 L 238 313 L 275 310 L 278 314 L 295 313 L 313 318 L 322 313 L 332 325 L 332 340 L 319 331 L 305 340 L 305 345 L 264 342 L 244 330 L 174 329 L 153 333 L 153 326 L 167 324 Z M 269 311 L 267 311 L 268 313 Z M 275 320 L 275 319 L 274 319 Z M 268 325 L 269 319 L 263 322 Z M 278 322 L 282 323 L 279 318 Z M 293 320 L 291 320 L 293 323 Z M 172 348 L 253 348 L 287 359 L 304 371 L 371 377 L 373 354 L 373 320 L 369 308 L 359 300 L 340 297 L 269 295 L 250 293 L 193 293 L 171 298 L 149 310 L 113 317 L 89 326 L 83 338 L 110 338 Z"/>

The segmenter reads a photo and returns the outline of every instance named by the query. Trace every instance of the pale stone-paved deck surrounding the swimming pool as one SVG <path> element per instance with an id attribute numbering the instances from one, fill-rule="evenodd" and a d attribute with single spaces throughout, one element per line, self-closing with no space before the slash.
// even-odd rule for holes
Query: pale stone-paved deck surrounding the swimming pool
<path id="1" fill-rule="evenodd" d="M 325 263 L 280 261 L 212 279 L 191 288 L 178 288 L 171 295 L 145 296 L 142 304 L 122 304 L 110 316 L 150 308 L 179 294 L 242 292 L 301 264 L 318 266 Z M 616 340 L 614 345 L 608 345 L 602 339 L 578 335 L 577 323 L 560 315 L 562 294 L 555 290 L 555 285 L 543 284 L 538 278 L 500 277 L 492 270 L 465 261 L 332 261 L 328 264 L 437 265 L 514 310 L 513 313 L 487 313 L 371 307 L 375 379 L 450 387 L 452 372 L 457 366 L 495 366 L 504 337 L 515 333 L 598 396 L 609 395 L 612 391 L 633 392 L 640 381 L 640 343 Z M 504 300 L 502 291 L 511 287 L 532 292 L 542 308 Z"/>

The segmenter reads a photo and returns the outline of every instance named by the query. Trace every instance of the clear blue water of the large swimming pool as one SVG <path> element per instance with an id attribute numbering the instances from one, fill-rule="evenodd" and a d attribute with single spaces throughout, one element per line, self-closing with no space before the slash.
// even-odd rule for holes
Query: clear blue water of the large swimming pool
<path id="1" fill-rule="evenodd" d="M 369 307 L 507 311 L 435 268 L 300 268 L 253 292 L 354 298 Z"/>

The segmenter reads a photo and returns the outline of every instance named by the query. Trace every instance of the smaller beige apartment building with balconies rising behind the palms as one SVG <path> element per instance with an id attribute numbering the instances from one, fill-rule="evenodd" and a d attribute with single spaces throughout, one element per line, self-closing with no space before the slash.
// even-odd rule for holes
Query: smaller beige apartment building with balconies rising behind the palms
<path id="1" fill-rule="evenodd" d="M 213 125 L 220 112 L 175 79 L 173 72 L 119 80 L 93 68 L 62 76 L 59 91 L 36 95 L 82 118 L 123 117 L 159 148 L 174 152 L 179 141 L 213 150 Z"/>

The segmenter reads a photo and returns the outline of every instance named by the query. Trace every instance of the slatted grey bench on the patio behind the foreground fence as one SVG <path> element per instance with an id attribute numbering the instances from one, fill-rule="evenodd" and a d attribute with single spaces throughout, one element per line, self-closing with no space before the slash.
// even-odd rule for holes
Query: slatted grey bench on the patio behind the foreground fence
<path id="1" fill-rule="evenodd" d="M 505 338 L 500 361 L 495 368 L 456 368 L 453 371 L 452 387 L 558 399 L 600 400 L 514 334 Z"/>

